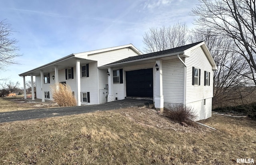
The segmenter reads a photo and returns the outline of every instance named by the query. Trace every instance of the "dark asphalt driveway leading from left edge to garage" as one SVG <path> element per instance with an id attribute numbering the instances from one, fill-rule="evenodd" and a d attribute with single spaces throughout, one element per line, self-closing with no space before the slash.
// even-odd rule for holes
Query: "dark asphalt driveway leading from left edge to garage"
<path id="1" fill-rule="evenodd" d="M 56 107 L 56 108 L 42 108 L 32 110 L 20 110 L 13 112 L 0 113 L 0 123 L 13 122 L 18 120 L 29 120 L 38 118 L 48 118 L 54 116 L 65 116 L 72 114 L 84 114 L 88 112 L 97 112 L 105 110 L 115 110 L 120 108 L 127 108 L 131 106 L 142 107 L 153 104 L 152 100 L 133 100 L 124 99 L 106 104 L 88 105 L 88 106 L 72 106 L 72 107 Z"/>

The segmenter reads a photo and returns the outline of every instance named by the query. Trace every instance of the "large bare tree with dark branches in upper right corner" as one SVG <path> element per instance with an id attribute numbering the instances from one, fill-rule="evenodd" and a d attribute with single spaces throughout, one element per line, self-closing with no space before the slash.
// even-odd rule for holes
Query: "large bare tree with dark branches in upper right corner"
<path id="1" fill-rule="evenodd" d="M 195 24 L 206 33 L 211 29 L 216 36 L 232 39 L 234 53 L 246 61 L 250 79 L 256 85 L 256 6 L 255 0 L 199 0 L 192 10 L 198 16 Z M 247 77 L 248 78 L 248 77 Z"/>

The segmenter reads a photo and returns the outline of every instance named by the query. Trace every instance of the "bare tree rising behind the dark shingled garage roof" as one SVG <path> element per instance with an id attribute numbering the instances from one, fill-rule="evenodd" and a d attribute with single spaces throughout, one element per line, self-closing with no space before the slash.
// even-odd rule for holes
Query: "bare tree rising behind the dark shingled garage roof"
<path id="1" fill-rule="evenodd" d="M 174 26 L 162 26 L 162 28 L 150 28 L 143 36 L 144 51 L 152 53 L 179 47 L 188 40 L 188 27 L 185 23 L 177 23 Z"/>

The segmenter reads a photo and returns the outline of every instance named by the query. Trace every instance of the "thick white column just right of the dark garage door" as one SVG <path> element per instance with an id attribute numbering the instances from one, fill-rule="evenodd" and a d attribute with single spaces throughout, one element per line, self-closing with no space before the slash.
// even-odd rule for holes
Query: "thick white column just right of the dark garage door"
<path id="1" fill-rule="evenodd" d="M 157 60 L 156 64 L 159 69 L 156 71 L 156 98 L 155 108 L 161 113 L 164 112 L 163 80 L 162 80 L 162 61 Z"/>

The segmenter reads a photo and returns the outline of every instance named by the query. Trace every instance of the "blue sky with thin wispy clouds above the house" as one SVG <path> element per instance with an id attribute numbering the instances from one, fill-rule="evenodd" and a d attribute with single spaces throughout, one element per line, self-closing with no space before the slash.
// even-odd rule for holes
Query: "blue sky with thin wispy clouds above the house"
<path id="1" fill-rule="evenodd" d="M 20 47 L 20 65 L 0 71 L 0 78 L 19 81 L 24 73 L 72 53 L 132 43 L 143 51 L 149 28 L 186 22 L 197 0 L 0 0 Z M 30 77 L 26 77 L 30 80 Z"/>

